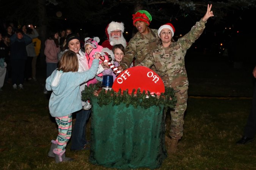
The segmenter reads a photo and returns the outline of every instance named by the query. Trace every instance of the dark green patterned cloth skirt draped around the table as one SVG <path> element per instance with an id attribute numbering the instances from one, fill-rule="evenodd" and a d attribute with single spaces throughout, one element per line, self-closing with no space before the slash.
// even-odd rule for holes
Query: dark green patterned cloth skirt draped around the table
<path id="1" fill-rule="evenodd" d="M 122 103 L 100 107 L 93 98 L 90 162 L 104 167 L 159 168 L 166 158 L 163 107 Z"/>

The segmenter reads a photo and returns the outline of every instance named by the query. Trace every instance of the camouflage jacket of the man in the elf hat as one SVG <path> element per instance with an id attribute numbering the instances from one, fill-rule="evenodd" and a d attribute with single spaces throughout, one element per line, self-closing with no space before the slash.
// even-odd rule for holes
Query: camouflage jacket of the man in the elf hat
<path id="1" fill-rule="evenodd" d="M 120 65 L 125 69 L 130 67 L 134 57 L 134 66 L 136 66 L 145 59 L 148 52 L 152 51 L 152 48 L 156 47 L 157 40 L 159 40 L 157 35 L 158 30 L 150 28 L 148 29 L 152 33 L 153 39 L 146 39 L 142 34 L 140 34 L 140 32 L 137 32 L 135 36 L 130 39 L 128 45 L 126 46 L 125 56 L 120 63 Z"/>

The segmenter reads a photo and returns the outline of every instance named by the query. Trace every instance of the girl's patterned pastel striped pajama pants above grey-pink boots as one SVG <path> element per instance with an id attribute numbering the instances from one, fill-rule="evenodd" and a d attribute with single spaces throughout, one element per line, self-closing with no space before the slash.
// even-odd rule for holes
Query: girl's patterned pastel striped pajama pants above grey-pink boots
<path id="1" fill-rule="evenodd" d="M 63 117 L 55 117 L 55 121 L 58 125 L 59 134 L 56 141 L 58 142 L 57 150 L 64 150 L 72 132 L 72 114 Z"/>

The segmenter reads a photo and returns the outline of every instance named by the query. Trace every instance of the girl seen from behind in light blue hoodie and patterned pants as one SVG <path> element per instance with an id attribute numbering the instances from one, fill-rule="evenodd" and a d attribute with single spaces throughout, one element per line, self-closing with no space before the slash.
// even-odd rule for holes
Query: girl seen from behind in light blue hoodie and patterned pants
<path id="1" fill-rule="evenodd" d="M 66 51 L 61 57 L 59 66 L 46 79 L 46 89 L 52 91 L 49 100 L 49 110 L 58 125 L 57 139 L 52 140 L 52 146 L 48 153 L 49 157 L 55 158 L 55 162 L 71 161 L 65 157 L 65 147 L 71 137 L 72 113 L 82 109 L 80 84 L 96 76 L 99 67 L 99 56 L 95 55 L 93 64 L 88 71 L 78 71 L 77 55 Z"/>

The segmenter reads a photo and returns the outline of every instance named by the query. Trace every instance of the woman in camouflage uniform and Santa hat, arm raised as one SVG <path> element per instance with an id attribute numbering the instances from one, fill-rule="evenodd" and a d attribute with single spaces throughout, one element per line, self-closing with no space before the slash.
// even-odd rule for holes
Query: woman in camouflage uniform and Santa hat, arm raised
<path id="1" fill-rule="evenodd" d="M 171 141 L 167 143 L 168 154 L 176 152 L 177 142 L 182 137 L 184 112 L 187 108 L 188 79 L 185 69 L 185 54 L 202 34 L 205 23 L 209 17 L 214 16 L 210 11 L 212 5 L 207 6 L 204 17 L 192 27 L 192 29 L 177 42 L 173 40 L 175 29 L 171 23 L 166 23 L 158 29 L 160 37 L 158 47 L 149 54 L 144 62 L 139 65 L 156 68 L 156 73 L 162 78 L 166 87 L 172 87 L 176 92 L 177 103 L 174 111 L 171 111 Z M 170 139 L 170 138 L 169 138 Z"/>

